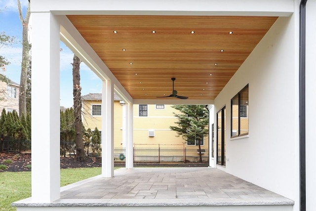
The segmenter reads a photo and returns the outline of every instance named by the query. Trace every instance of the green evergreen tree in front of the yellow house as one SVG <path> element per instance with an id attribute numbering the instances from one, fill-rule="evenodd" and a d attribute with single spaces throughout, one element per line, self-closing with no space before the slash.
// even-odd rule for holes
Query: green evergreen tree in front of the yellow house
<path id="1" fill-rule="evenodd" d="M 208 134 L 208 109 L 205 105 L 174 105 L 172 108 L 180 111 L 173 113 L 178 118 L 175 122 L 178 126 L 170 126 L 170 129 L 182 136 L 185 141 L 194 141 L 201 152 L 201 140 Z M 199 162 L 202 162 L 202 154 L 199 153 Z"/>

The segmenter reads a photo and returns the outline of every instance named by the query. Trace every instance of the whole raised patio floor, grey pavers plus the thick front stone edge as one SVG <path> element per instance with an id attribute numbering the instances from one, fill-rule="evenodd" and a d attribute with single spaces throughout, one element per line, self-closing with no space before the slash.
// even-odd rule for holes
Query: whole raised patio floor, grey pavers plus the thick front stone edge
<path id="1" fill-rule="evenodd" d="M 51 203 L 25 199 L 18 207 L 170 207 L 170 206 L 292 206 L 276 193 L 213 168 L 116 169 L 61 188 Z M 273 206 L 270 206 L 273 207 Z M 206 208 L 206 207 L 205 207 Z M 287 207 L 291 210 L 291 207 Z"/>

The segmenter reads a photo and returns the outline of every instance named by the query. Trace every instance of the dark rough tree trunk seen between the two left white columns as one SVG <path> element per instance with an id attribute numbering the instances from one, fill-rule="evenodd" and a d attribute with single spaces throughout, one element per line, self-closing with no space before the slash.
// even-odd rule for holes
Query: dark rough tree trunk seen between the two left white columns
<path id="1" fill-rule="evenodd" d="M 73 95 L 74 95 L 74 116 L 76 132 L 76 157 L 78 161 L 84 161 L 85 155 L 83 150 L 82 139 L 82 120 L 81 120 L 81 87 L 80 87 L 80 59 L 74 55 L 73 63 Z"/>

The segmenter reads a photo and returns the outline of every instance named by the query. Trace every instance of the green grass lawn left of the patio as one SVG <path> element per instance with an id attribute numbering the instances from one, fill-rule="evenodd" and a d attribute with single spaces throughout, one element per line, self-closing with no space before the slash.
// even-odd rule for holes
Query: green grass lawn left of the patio
<path id="1" fill-rule="evenodd" d="M 117 169 L 117 168 L 115 168 Z M 101 174 L 101 167 L 60 169 L 60 186 Z M 31 171 L 0 172 L 0 210 L 15 211 L 12 202 L 31 196 Z"/>

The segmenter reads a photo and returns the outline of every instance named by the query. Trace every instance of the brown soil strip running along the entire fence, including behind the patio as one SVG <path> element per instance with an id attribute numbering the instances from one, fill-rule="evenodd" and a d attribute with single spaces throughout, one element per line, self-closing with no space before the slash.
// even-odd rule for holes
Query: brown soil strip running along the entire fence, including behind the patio
<path id="1" fill-rule="evenodd" d="M 7 161 L 11 162 L 7 162 Z M 0 153 L 0 165 L 5 165 L 7 169 L 2 171 L 31 171 L 31 154 L 16 154 L 16 153 Z M 125 164 L 115 164 L 115 166 L 124 167 Z M 134 167 L 207 167 L 208 164 L 199 163 L 178 163 L 178 164 L 134 164 Z M 86 157 L 84 162 L 79 162 L 75 157 L 60 157 L 60 168 L 86 168 L 86 167 L 101 167 L 101 158 Z"/>

